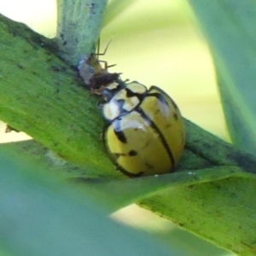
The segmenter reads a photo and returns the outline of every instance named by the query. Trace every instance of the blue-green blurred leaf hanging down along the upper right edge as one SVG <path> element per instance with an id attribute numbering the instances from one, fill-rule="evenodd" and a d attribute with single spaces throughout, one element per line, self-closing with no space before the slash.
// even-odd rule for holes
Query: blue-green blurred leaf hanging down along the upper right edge
<path id="1" fill-rule="evenodd" d="M 189 0 L 189 3 L 212 51 L 232 141 L 255 154 L 255 1 Z"/>

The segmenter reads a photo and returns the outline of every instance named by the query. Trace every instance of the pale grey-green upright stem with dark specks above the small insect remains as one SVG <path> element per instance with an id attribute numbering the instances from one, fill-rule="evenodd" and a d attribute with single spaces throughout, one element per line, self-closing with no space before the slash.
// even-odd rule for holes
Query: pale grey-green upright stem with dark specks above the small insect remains
<path id="1" fill-rule="evenodd" d="M 57 36 L 61 58 L 77 66 L 82 55 L 94 52 L 107 0 L 57 0 Z"/>

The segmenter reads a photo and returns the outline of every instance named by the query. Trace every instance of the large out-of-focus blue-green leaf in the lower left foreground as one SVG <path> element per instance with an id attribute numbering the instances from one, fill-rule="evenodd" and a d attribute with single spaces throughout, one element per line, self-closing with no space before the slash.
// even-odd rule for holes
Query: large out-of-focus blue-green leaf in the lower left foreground
<path id="1" fill-rule="evenodd" d="M 177 255 L 147 234 L 115 224 L 90 197 L 40 168 L 15 164 L 3 152 L 0 162 L 5 255 Z"/>

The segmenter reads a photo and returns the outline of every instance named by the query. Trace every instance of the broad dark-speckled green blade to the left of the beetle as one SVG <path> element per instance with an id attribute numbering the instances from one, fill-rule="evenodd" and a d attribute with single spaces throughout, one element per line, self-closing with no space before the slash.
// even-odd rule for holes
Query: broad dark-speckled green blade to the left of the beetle
<path id="1" fill-rule="evenodd" d="M 51 41 L 1 15 L 0 21 L 1 119 L 66 160 L 93 160 L 92 169 L 121 177 L 102 145 L 97 99 L 77 71 L 51 52 Z"/>

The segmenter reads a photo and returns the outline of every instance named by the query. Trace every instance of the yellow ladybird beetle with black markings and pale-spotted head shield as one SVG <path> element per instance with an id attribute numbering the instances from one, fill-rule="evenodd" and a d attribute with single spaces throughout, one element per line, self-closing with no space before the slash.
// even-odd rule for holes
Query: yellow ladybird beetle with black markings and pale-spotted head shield
<path id="1" fill-rule="evenodd" d="M 173 172 L 183 154 L 183 119 L 172 98 L 156 86 L 113 82 L 102 90 L 105 147 L 130 177 Z"/>

